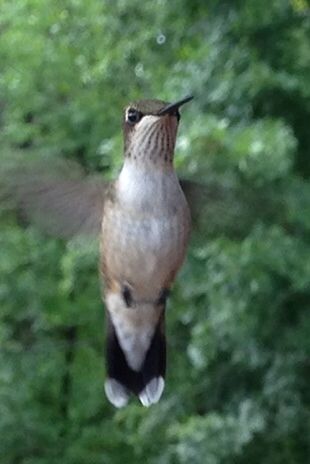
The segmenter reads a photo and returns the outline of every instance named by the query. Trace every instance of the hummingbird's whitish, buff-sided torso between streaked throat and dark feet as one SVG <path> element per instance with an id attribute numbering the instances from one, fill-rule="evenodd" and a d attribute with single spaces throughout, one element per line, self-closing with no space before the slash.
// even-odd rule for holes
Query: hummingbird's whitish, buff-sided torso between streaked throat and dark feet
<path id="1" fill-rule="evenodd" d="M 184 260 L 189 211 L 174 173 L 130 174 L 120 175 L 117 201 L 105 210 L 103 259 L 110 278 L 151 298 Z"/>

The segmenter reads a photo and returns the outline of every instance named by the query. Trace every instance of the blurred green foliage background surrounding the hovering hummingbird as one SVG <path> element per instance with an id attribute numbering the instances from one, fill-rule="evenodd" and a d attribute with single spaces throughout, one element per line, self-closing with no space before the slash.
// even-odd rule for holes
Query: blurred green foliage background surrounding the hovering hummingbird
<path id="1" fill-rule="evenodd" d="M 2 214 L 1 464 L 309 462 L 308 2 L 3 0 L 0 63 L 0 169 L 115 177 L 122 108 L 193 93 L 175 161 L 205 186 L 150 409 L 104 396 L 96 247 Z"/>

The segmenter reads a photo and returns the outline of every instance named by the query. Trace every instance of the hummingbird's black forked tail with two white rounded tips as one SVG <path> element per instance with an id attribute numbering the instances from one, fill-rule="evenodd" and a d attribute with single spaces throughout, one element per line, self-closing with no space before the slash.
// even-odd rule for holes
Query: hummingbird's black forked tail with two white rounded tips
<path id="1" fill-rule="evenodd" d="M 130 393 L 137 395 L 143 406 L 157 403 L 165 385 L 166 339 L 164 330 L 165 311 L 159 318 L 142 364 L 136 369 L 129 365 L 128 353 L 124 352 L 118 335 L 107 312 L 107 375 L 105 392 L 116 407 L 125 406 Z M 132 341 L 133 349 L 139 349 L 139 342 Z M 132 363 L 131 363 L 132 364 Z"/>

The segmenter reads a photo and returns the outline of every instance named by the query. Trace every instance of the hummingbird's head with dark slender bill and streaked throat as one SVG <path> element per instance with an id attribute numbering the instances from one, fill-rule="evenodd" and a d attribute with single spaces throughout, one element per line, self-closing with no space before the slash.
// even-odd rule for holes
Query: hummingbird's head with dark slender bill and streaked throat
<path id="1" fill-rule="evenodd" d="M 161 159 L 172 163 L 179 108 L 192 100 L 186 97 L 175 103 L 140 100 L 125 108 L 123 117 L 125 156 L 139 159 Z"/>

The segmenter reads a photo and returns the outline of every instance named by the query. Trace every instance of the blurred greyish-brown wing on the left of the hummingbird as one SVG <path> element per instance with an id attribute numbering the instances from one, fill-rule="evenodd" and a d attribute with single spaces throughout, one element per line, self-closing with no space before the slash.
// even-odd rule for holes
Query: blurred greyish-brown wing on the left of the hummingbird
<path id="1" fill-rule="evenodd" d="M 98 234 L 111 185 L 86 176 L 76 163 L 23 162 L 1 175 L 2 204 L 16 208 L 48 234 Z"/>

